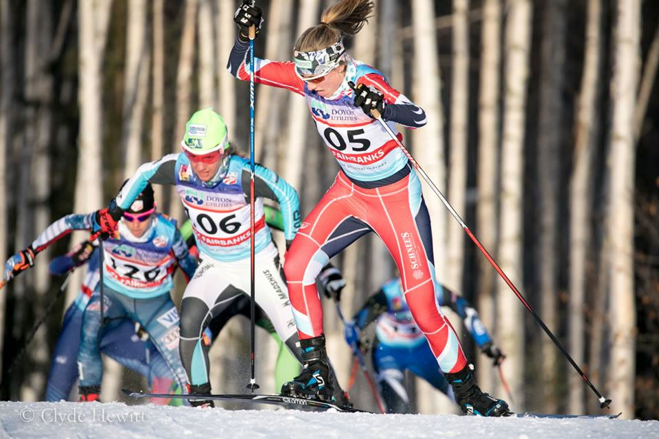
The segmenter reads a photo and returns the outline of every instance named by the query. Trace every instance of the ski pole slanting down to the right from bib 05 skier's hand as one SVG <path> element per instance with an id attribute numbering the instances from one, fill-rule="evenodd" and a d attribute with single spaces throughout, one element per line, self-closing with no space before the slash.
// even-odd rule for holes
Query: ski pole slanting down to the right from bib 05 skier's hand
<path id="1" fill-rule="evenodd" d="M 349 82 L 348 84 L 349 84 L 350 88 L 352 88 L 355 92 L 358 91 L 353 82 Z M 508 278 L 508 276 L 506 276 L 506 274 L 503 272 L 503 270 L 501 270 L 501 268 L 496 263 L 496 261 L 494 261 L 494 258 L 492 258 L 492 256 L 489 254 L 489 252 L 487 252 L 487 250 L 485 250 L 485 247 L 483 247 L 483 244 L 481 244 L 481 241 L 478 241 L 478 239 L 476 239 L 476 237 L 474 236 L 472 231 L 469 230 L 469 228 L 467 227 L 465 222 L 463 222 L 460 215 L 458 215 L 458 213 L 455 211 L 455 209 L 453 209 L 453 206 L 451 206 L 449 204 L 449 202 L 446 200 L 446 198 L 444 198 L 444 195 L 441 194 L 441 191 L 439 191 L 439 189 L 437 188 L 435 183 L 432 182 L 432 180 L 430 180 L 430 177 L 428 177 L 428 174 L 426 174 L 424 169 L 422 169 L 421 166 L 419 166 L 419 163 L 417 163 L 417 161 L 414 159 L 412 154 L 410 154 L 410 152 L 408 152 L 408 150 L 404 147 L 404 145 L 400 142 L 400 140 L 398 140 L 398 137 L 396 137 L 396 135 L 393 133 L 391 128 L 389 128 L 389 126 L 386 124 L 384 119 L 382 119 L 382 114 L 376 108 L 373 108 L 373 109 L 371 109 L 371 116 L 374 117 L 375 119 L 377 119 L 380 122 L 380 124 L 382 125 L 382 128 L 384 128 L 384 130 L 387 132 L 387 134 L 389 134 L 391 139 L 393 139 L 393 141 L 395 141 L 395 143 L 397 143 L 398 147 L 400 147 L 402 152 L 407 156 L 410 163 L 412 163 L 412 165 L 415 167 L 417 172 L 419 174 L 421 174 L 421 177 L 423 177 L 424 180 L 426 180 L 426 182 L 428 183 L 428 186 L 430 186 L 430 189 L 432 189 L 432 191 L 435 192 L 435 195 L 437 195 L 437 197 L 439 197 L 439 200 L 441 200 L 441 202 L 444 204 L 444 206 L 446 206 L 446 209 L 448 209 L 448 211 L 451 213 L 451 215 L 454 217 L 454 219 L 457 222 L 459 222 L 460 226 L 463 228 L 463 230 L 465 230 L 465 233 L 467 233 L 467 235 L 469 235 L 469 237 L 472 239 L 472 241 L 474 241 L 474 244 L 476 244 L 476 246 L 478 247 L 478 250 L 481 250 L 481 252 L 485 255 L 485 257 L 487 258 L 489 263 L 492 264 L 492 266 L 494 267 L 494 270 L 496 270 L 496 272 L 498 272 L 499 276 L 501 276 L 501 278 L 505 281 L 505 283 L 508 284 L 508 286 L 513 291 L 513 293 L 517 296 L 518 299 L 520 299 L 520 301 L 522 302 L 524 307 L 526 307 L 526 309 L 529 310 L 531 315 L 533 315 L 533 318 L 535 318 L 535 321 L 538 324 L 540 324 L 540 327 L 542 327 L 544 332 L 549 336 L 549 338 L 551 338 L 551 341 L 554 342 L 554 344 L 557 346 L 557 348 L 559 348 L 559 350 L 568 359 L 568 361 L 570 361 L 570 364 L 572 364 L 573 368 L 575 368 L 575 370 L 577 370 L 579 375 L 581 375 L 581 379 L 583 379 L 583 382 L 586 383 L 588 385 L 588 387 L 590 387 L 590 389 L 594 392 L 594 394 L 597 395 L 597 398 L 599 399 L 600 407 L 601 408 L 608 407 L 611 403 L 611 400 L 610 399 L 605 399 L 605 397 L 602 396 L 602 394 L 597 390 L 597 388 L 595 388 L 595 386 L 590 382 L 590 379 L 588 379 L 586 374 L 583 373 L 583 370 L 581 370 L 581 368 L 579 368 L 577 363 L 575 363 L 575 360 L 572 357 L 570 357 L 570 354 L 568 354 L 568 352 L 565 350 L 565 348 L 563 347 L 561 342 L 558 341 L 558 339 L 551 332 L 551 330 L 547 327 L 547 325 L 544 324 L 544 322 L 542 321 L 542 318 L 540 318 L 540 316 L 537 315 L 537 313 L 535 312 L 535 309 L 533 309 L 533 307 L 531 307 L 531 305 L 529 305 L 529 302 L 527 302 L 527 300 L 524 298 L 524 296 L 522 296 L 522 294 L 519 292 L 517 287 L 512 283 L 512 281 Z"/>

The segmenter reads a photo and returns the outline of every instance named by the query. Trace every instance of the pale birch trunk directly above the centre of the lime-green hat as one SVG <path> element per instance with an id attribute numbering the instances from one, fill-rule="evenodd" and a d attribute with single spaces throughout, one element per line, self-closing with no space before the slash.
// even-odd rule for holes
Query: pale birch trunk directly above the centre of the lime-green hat
<path id="1" fill-rule="evenodd" d="M 199 0 L 199 106 L 212 108 L 215 91 L 215 36 L 213 36 L 213 8 L 211 0 Z"/>

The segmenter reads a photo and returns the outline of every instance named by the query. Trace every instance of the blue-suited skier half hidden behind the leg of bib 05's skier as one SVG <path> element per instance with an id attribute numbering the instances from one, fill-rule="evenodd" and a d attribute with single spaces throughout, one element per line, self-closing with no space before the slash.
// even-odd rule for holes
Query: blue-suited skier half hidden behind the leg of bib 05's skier
<path id="1" fill-rule="evenodd" d="M 437 305 L 450 307 L 463 319 L 467 331 L 485 355 L 498 365 L 505 355 L 492 341 L 478 312 L 462 296 L 437 285 Z M 375 322 L 375 339 L 360 335 Z M 453 390 L 437 366 L 437 359 L 423 333 L 414 322 L 403 294 L 400 278 L 395 278 L 375 292 L 345 326 L 345 340 L 350 345 L 371 349 L 373 368 L 388 413 L 409 413 L 411 404 L 405 390 L 405 370 L 428 381 L 434 388 L 454 399 Z"/>

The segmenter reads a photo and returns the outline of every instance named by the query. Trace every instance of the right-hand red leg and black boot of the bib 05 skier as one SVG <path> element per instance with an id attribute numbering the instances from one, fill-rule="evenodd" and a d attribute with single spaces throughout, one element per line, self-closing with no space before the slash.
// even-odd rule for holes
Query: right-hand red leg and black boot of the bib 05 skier
<path id="1" fill-rule="evenodd" d="M 473 366 L 467 364 L 453 327 L 437 305 L 430 216 L 421 195 L 419 178 L 410 174 L 386 189 L 378 189 L 378 195 L 382 210 L 369 210 L 369 219 L 395 260 L 412 316 L 452 385 L 456 401 L 464 413 L 507 414 L 505 401 L 494 399 L 478 388 Z M 403 209 L 406 204 L 408 209 Z M 388 220 L 382 222 L 380 218 Z"/>

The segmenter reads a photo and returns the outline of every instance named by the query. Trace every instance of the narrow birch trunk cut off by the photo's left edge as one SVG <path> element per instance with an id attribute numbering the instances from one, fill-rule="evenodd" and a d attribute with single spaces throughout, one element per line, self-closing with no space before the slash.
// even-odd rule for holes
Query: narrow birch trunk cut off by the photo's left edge
<path id="1" fill-rule="evenodd" d="M 0 175 L 8 171 L 7 157 L 14 134 L 14 84 L 16 63 L 14 62 L 14 16 L 10 0 L 0 0 Z M 0 193 L 8 193 L 7 179 L 0 178 Z M 0 261 L 8 258 L 8 198 L 0 200 Z M 0 351 L 5 337 L 5 300 L 7 294 L 0 294 Z M 0 370 L 5 370 L 0 355 Z"/>

